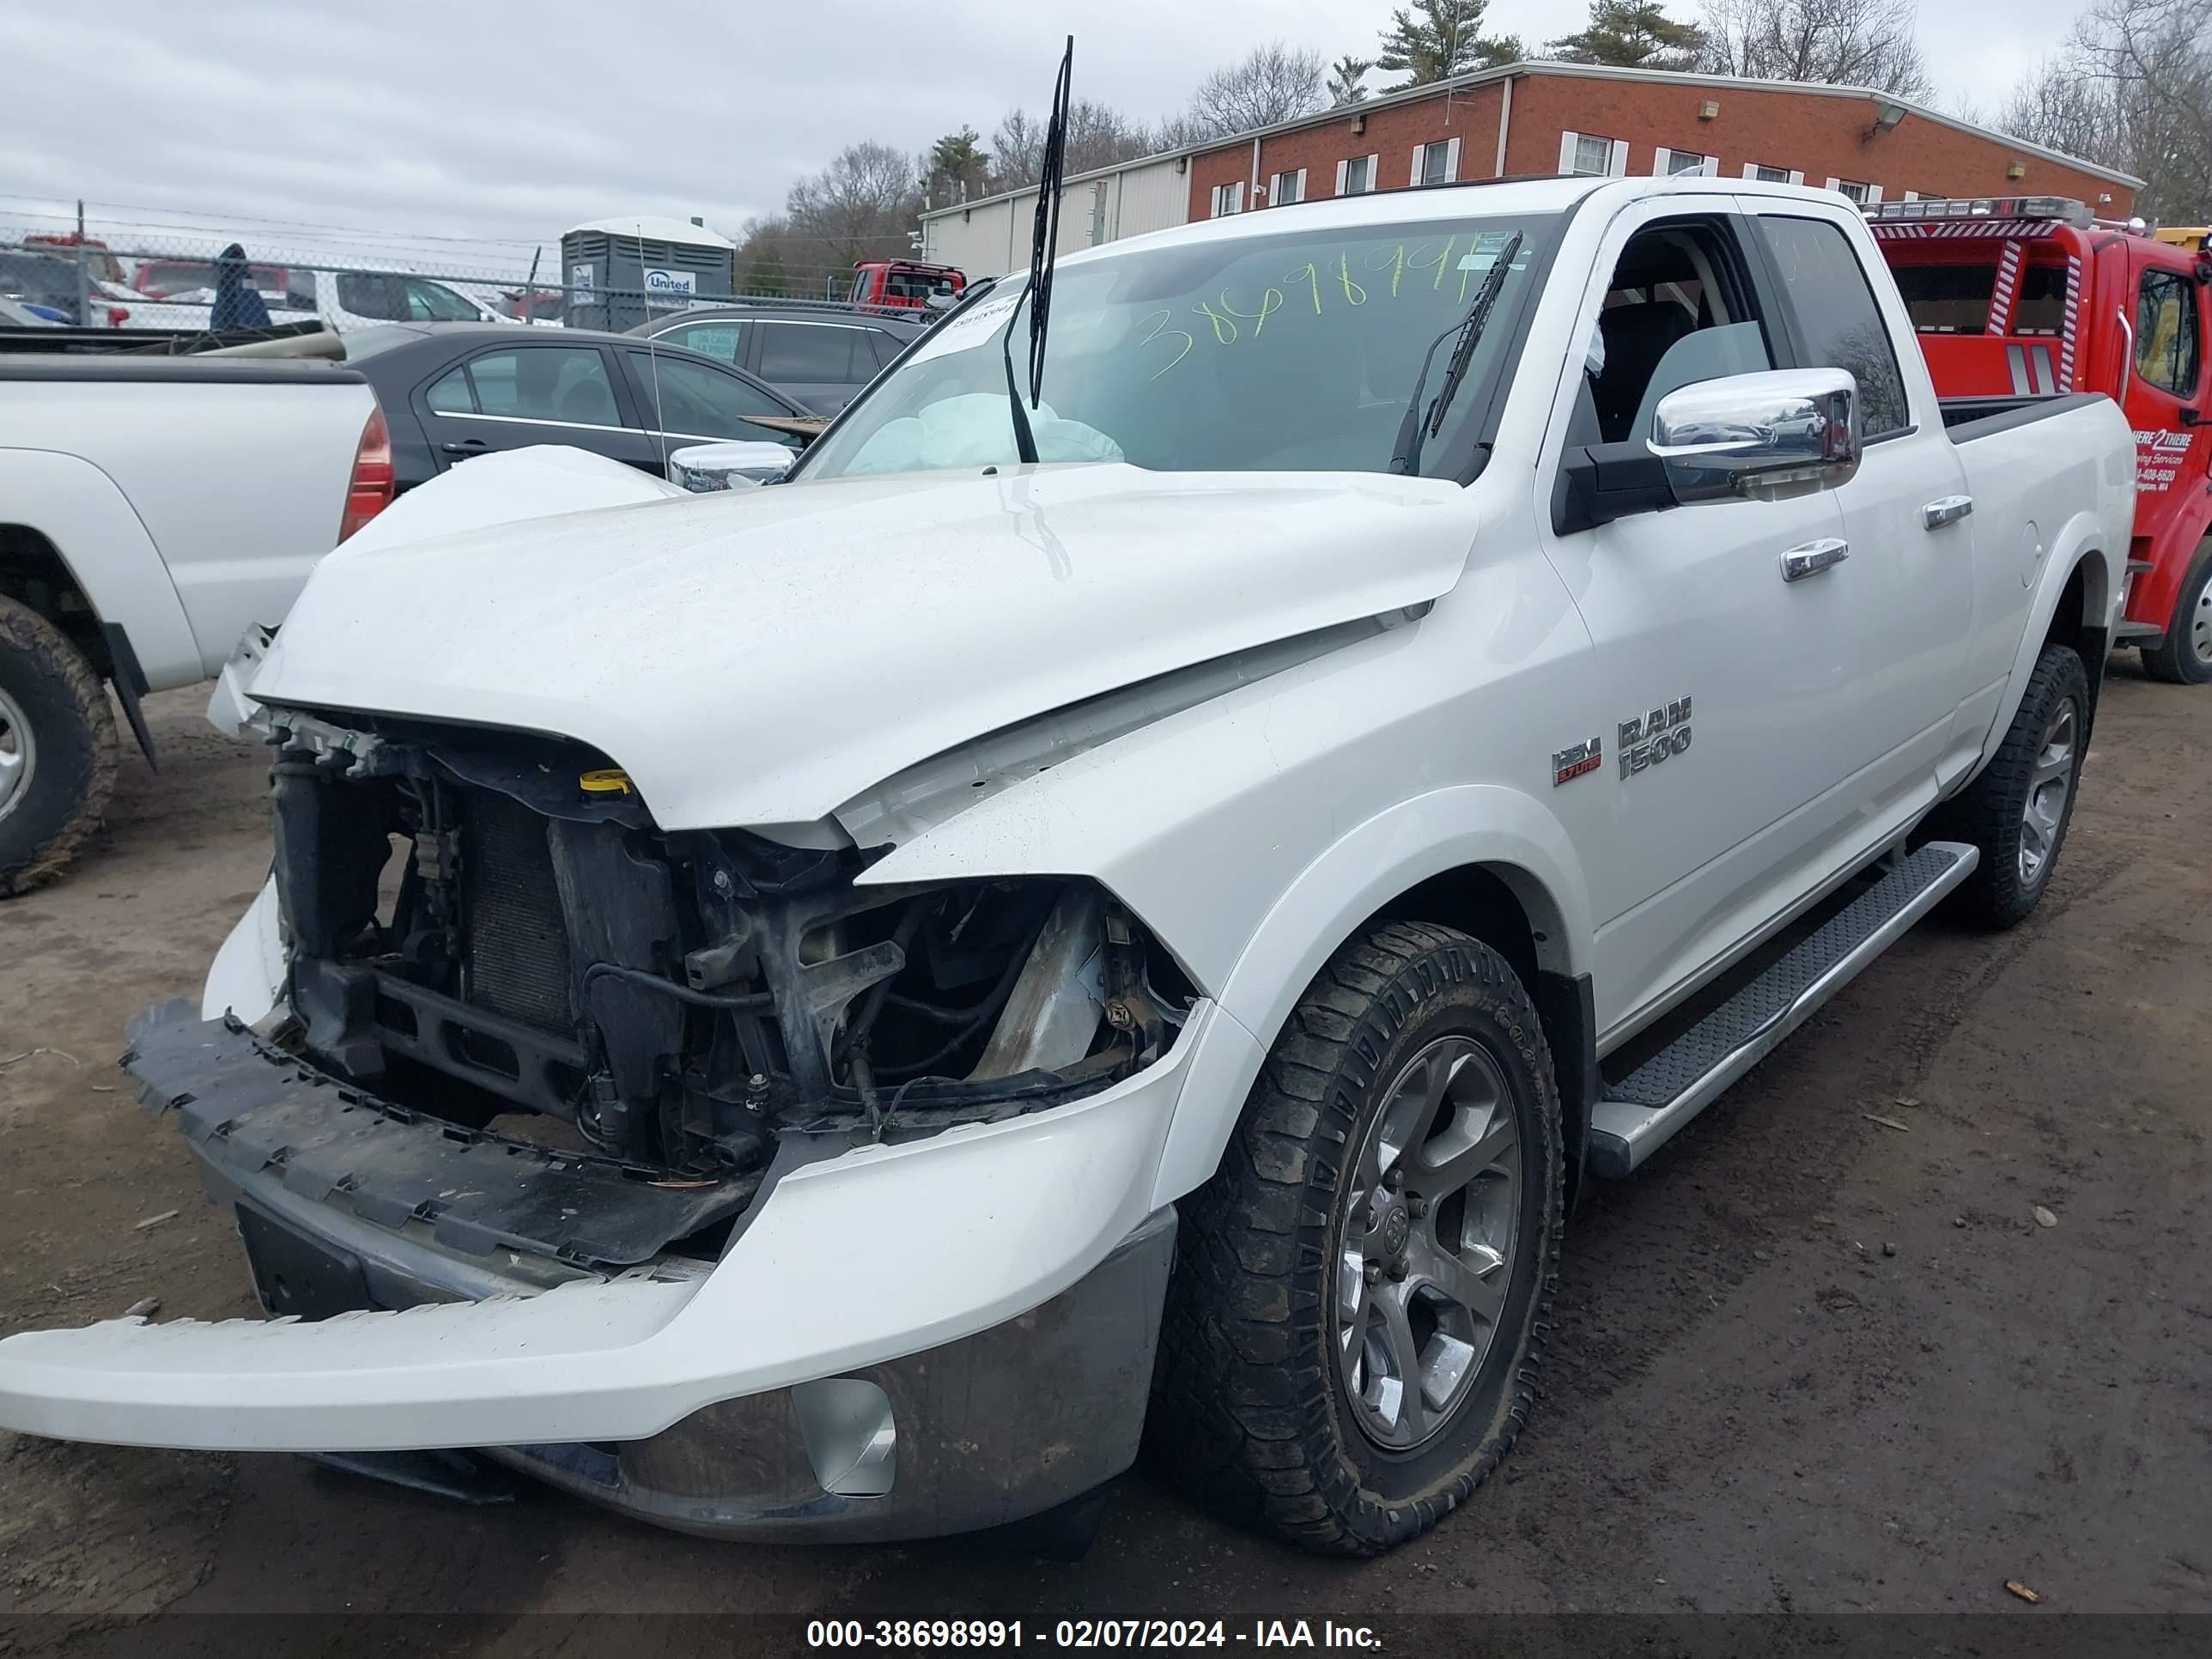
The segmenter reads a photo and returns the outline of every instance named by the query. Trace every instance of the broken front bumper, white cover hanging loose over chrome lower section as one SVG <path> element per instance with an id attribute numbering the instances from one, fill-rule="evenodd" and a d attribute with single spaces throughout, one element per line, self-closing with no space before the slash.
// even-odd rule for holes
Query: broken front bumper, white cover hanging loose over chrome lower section
<path id="1" fill-rule="evenodd" d="M 0 1340 L 0 1427 L 482 1447 L 732 1537 L 1033 1515 L 1135 1458 L 1175 1243 L 1150 1186 L 1212 1018 L 1201 1002 L 1157 1064 L 1066 1106 L 909 1144 L 785 1137 L 719 1261 L 622 1267 L 728 1194 L 398 1113 L 232 1022 L 161 1009 L 131 1066 L 210 1190 L 361 1259 L 378 1305 L 22 1332 Z"/>

